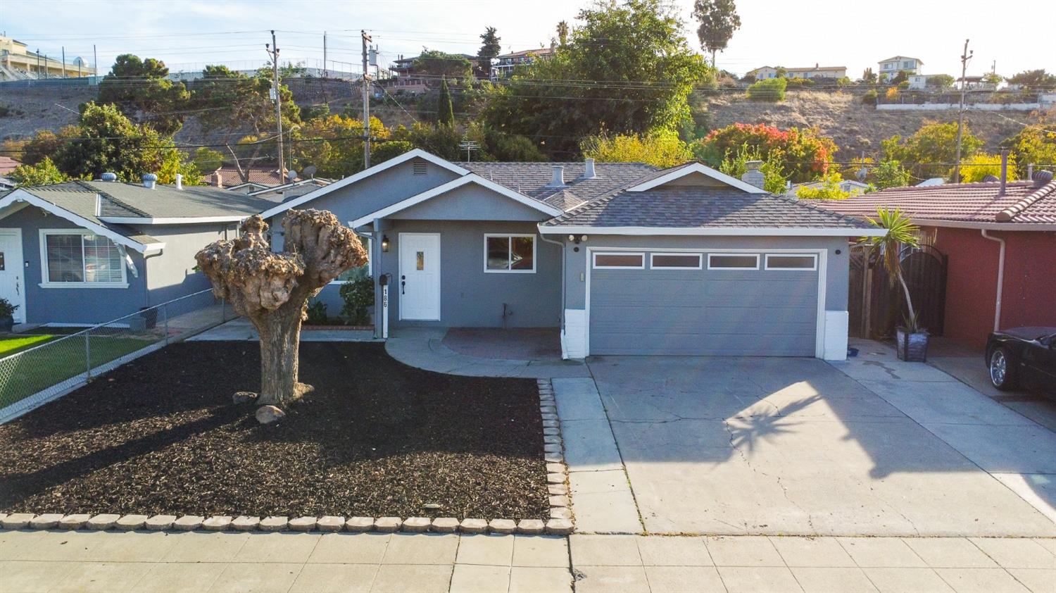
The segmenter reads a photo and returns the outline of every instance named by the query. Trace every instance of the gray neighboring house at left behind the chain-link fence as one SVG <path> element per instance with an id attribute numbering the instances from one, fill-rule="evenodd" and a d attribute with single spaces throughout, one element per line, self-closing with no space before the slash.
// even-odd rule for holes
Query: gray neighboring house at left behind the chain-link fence
<path id="1" fill-rule="evenodd" d="M 12 190 L 0 194 L 0 297 L 19 305 L 16 322 L 80 326 L 208 289 L 194 254 L 281 200 L 150 181 Z"/>

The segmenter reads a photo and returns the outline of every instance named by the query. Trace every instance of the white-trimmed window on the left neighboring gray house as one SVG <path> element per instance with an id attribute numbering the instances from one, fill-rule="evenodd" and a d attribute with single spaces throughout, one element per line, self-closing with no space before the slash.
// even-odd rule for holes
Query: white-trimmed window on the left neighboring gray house
<path id="1" fill-rule="evenodd" d="M 40 229 L 40 286 L 125 289 L 125 255 L 100 235 L 73 228 Z"/>

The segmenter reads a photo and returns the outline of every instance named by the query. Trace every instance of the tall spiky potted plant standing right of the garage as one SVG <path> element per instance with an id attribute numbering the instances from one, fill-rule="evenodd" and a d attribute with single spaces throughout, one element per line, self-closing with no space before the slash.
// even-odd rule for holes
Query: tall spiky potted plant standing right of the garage
<path id="1" fill-rule="evenodd" d="M 902 260 L 899 257 L 903 245 L 910 247 L 920 245 L 919 228 L 898 209 L 880 208 L 876 210 L 875 219 L 867 220 L 880 228 L 887 229 L 887 234 L 883 237 L 867 237 L 862 241 L 880 248 L 888 279 L 892 284 L 898 283 L 902 286 L 902 294 L 906 299 L 907 313 L 903 317 L 904 323 L 894 330 L 895 352 L 900 360 L 923 363 L 927 360 L 928 333 L 920 327 L 920 317 L 913 309 L 909 286 L 902 275 Z"/>

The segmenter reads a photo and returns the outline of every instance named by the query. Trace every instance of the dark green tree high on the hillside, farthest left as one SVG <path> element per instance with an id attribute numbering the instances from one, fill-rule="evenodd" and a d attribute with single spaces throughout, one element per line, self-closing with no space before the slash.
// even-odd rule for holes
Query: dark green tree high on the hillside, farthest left
<path id="1" fill-rule="evenodd" d="M 173 82 L 168 75 L 162 60 L 121 54 L 99 82 L 95 100 L 116 105 L 125 115 L 162 134 L 173 134 L 184 125 L 190 94 L 183 82 Z"/>

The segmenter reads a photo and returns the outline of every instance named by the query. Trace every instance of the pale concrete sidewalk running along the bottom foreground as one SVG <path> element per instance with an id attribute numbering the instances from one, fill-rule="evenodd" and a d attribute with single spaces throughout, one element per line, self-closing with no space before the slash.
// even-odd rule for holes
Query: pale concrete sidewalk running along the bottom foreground
<path id="1" fill-rule="evenodd" d="M 1056 540 L 3 532 L 4 592 L 1052 593 Z"/>

